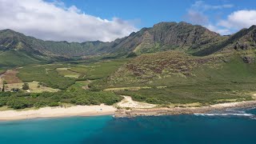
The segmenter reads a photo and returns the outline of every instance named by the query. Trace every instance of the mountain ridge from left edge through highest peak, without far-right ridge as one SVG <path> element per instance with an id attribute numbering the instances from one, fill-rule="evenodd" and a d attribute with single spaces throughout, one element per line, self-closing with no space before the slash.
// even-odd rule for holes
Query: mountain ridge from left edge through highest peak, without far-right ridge
<path id="1" fill-rule="evenodd" d="M 161 22 L 114 42 L 52 42 L 27 37 L 13 30 L 0 31 L 2 50 L 26 50 L 50 56 L 79 57 L 100 54 L 145 54 L 163 50 L 200 49 L 222 37 L 202 26 L 186 22 Z"/>

